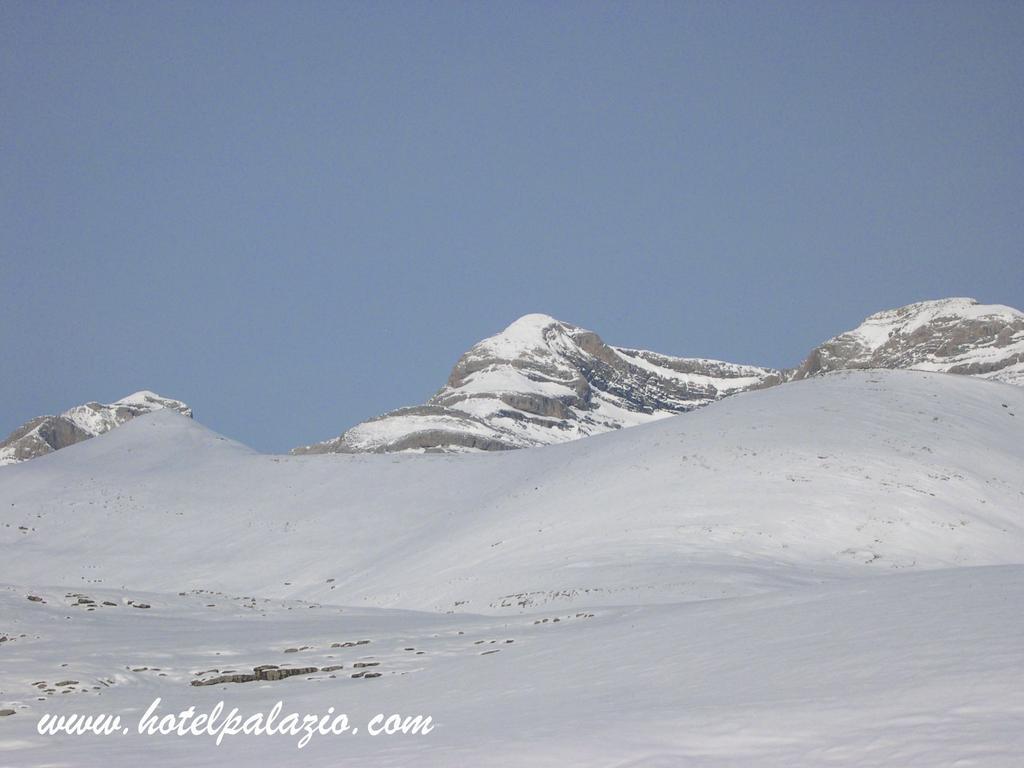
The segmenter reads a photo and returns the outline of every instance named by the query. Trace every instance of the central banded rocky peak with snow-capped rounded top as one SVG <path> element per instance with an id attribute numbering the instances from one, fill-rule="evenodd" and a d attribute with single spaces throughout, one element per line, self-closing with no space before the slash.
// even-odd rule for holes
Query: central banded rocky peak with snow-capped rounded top
<path id="1" fill-rule="evenodd" d="M 425 406 L 398 409 L 296 454 L 502 451 L 565 442 L 692 411 L 782 381 L 778 371 L 613 347 L 527 314 L 475 344 Z"/>

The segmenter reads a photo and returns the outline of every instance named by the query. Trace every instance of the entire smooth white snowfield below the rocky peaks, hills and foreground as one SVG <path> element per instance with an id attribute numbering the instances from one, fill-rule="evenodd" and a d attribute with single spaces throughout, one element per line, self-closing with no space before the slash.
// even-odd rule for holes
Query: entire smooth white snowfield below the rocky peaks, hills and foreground
<path id="1" fill-rule="evenodd" d="M 158 412 L 0 469 L 0 766 L 1018 766 L 1022 563 L 1024 390 L 964 377 L 480 456 Z M 265 665 L 315 671 L 190 684 Z M 157 697 L 349 730 L 141 735 Z"/>

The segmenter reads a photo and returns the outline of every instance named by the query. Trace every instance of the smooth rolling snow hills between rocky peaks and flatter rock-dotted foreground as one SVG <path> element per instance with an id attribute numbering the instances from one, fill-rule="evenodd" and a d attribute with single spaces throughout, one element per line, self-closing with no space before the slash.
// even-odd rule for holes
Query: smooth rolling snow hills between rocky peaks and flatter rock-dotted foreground
<path id="1" fill-rule="evenodd" d="M 1022 467 L 1024 390 L 916 372 L 470 456 L 263 456 L 161 411 L 4 470 L 0 544 L 19 583 L 484 612 L 679 601 L 1019 562 Z"/>

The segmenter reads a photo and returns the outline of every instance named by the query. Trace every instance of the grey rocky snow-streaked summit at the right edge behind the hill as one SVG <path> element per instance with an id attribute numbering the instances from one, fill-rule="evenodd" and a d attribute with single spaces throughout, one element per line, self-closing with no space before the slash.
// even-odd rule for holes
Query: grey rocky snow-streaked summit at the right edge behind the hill
<path id="1" fill-rule="evenodd" d="M 817 347 L 796 378 L 850 368 L 942 371 L 1024 385 L 1024 312 L 974 299 L 878 312 Z"/>

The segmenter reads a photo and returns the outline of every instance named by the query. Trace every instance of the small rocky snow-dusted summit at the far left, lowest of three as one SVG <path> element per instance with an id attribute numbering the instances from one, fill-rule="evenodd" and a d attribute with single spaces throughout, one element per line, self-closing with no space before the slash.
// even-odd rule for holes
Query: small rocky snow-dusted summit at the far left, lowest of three
<path id="1" fill-rule="evenodd" d="M 0 442 L 0 465 L 45 456 L 109 432 L 136 416 L 165 408 L 189 418 L 193 415 L 191 409 L 180 400 L 141 391 L 110 404 L 86 402 L 57 416 L 36 417 Z"/>

